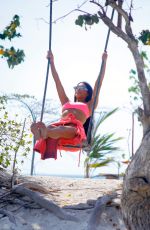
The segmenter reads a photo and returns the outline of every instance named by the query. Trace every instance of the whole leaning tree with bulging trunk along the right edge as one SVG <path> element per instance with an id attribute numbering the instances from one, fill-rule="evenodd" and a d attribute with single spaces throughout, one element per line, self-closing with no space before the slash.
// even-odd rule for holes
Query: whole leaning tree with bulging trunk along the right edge
<path id="1" fill-rule="evenodd" d="M 104 5 L 98 0 L 90 2 L 97 5 L 98 11 L 94 14 L 84 12 L 78 16 L 76 24 L 87 26 L 102 20 L 114 34 L 127 43 L 135 61 L 142 95 L 142 107 L 138 109 L 138 117 L 143 126 L 143 138 L 125 173 L 121 206 L 128 229 L 148 230 L 150 229 L 150 89 L 144 73 L 144 60 L 138 48 L 139 38 L 133 34 L 131 27 L 133 0 L 130 1 L 129 12 L 124 10 L 123 0 L 107 0 L 104 1 Z M 117 12 L 117 25 L 106 13 L 107 6 Z M 149 30 L 141 32 L 140 40 L 145 45 L 150 45 Z"/>

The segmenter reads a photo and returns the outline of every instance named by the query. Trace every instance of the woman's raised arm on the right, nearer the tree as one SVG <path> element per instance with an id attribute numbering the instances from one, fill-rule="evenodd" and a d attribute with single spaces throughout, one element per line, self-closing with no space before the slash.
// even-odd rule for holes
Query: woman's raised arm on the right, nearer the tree
<path id="1" fill-rule="evenodd" d="M 91 108 L 93 103 L 94 103 L 94 100 L 96 99 L 96 103 L 95 103 L 95 108 L 97 107 L 98 105 L 98 101 L 99 101 L 99 94 L 100 94 L 100 89 L 101 89 L 101 85 L 102 85 L 102 82 L 103 82 L 103 79 L 104 79 L 104 75 L 105 75 L 105 69 L 106 69 L 106 60 L 107 60 L 107 53 L 104 52 L 103 55 L 102 55 L 102 63 L 103 63 L 103 69 L 102 69 L 102 75 L 101 75 L 101 79 L 100 79 L 100 85 L 98 87 L 98 91 L 97 91 L 97 86 L 98 86 L 98 78 L 95 82 L 95 85 L 94 85 L 94 89 L 93 89 L 93 95 L 92 95 L 92 99 L 91 101 L 89 102 L 89 107 Z M 97 92 L 96 92 L 97 91 Z"/>

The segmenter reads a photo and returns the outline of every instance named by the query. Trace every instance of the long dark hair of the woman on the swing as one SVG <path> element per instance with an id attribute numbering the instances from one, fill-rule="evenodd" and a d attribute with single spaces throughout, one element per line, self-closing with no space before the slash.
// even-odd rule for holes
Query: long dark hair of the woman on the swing
<path id="1" fill-rule="evenodd" d="M 92 89 L 91 85 L 90 85 L 89 83 L 85 82 L 85 81 L 79 82 L 79 83 L 77 84 L 77 86 L 78 86 L 80 83 L 83 83 L 83 84 L 86 86 L 86 88 L 88 89 L 88 96 L 85 98 L 85 102 L 88 102 L 88 101 L 90 101 L 90 100 L 92 99 L 93 89 Z M 74 97 L 74 101 L 76 101 L 76 97 Z M 85 122 L 84 125 L 83 125 L 86 135 L 87 135 L 87 133 L 88 133 L 88 128 L 89 128 L 90 120 L 91 120 L 91 117 L 88 117 L 87 120 L 86 120 L 86 122 Z M 91 139 L 91 137 L 90 137 L 89 140 L 88 140 L 89 142 L 90 142 L 90 139 Z"/>

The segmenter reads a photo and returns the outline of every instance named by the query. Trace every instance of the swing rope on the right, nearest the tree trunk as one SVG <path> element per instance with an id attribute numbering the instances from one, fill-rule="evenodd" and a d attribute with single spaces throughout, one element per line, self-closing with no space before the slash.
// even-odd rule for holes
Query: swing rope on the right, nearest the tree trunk
<path id="1" fill-rule="evenodd" d="M 112 10 L 111 20 L 113 20 L 113 17 L 114 17 L 114 9 Z M 108 33 L 107 33 L 104 52 L 107 52 L 107 46 L 108 46 L 109 37 L 110 37 L 110 28 L 108 29 Z M 88 126 L 88 131 L 87 131 L 87 142 L 88 142 L 88 144 L 90 144 L 90 142 L 91 142 L 91 133 L 92 133 L 92 127 L 93 127 L 94 110 L 95 110 L 95 105 L 96 105 L 96 101 L 97 101 L 97 97 L 98 97 L 98 90 L 99 90 L 99 87 L 100 87 L 103 68 L 104 68 L 104 60 L 102 60 L 100 73 L 99 73 L 99 76 L 98 76 L 98 82 L 97 82 L 97 88 L 96 88 L 96 96 L 94 98 L 94 102 L 93 102 L 93 106 L 92 106 L 92 114 L 91 114 L 91 118 L 90 118 L 90 122 L 89 122 L 89 126 Z"/>

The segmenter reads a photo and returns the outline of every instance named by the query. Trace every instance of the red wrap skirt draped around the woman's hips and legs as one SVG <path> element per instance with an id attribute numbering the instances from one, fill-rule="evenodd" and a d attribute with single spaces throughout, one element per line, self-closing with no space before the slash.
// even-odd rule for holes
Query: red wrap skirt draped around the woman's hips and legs
<path id="1" fill-rule="evenodd" d="M 41 159 L 54 158 L 57 159 L 57 149 L 70 152 L 79 151 L 82 148 L 82 142 L 86 140 L 86 134 L 82 123 L 76 119 L 73 114 L 68 114 L 67 117 L 62 118 L 60 121 L 52 123 L 51 126 L 71 125 L 76 127 L 76 136 L 72 139 L 60 138 L 46 140 L 40 139 L 36 141 L 34 150 L 41 153 Z M 71 147 L 67 147 L 67 146 Z M 74 147 L 72 147 L 74 146 Z M 76 147 L 78 146 L 78 147 Z"/>

